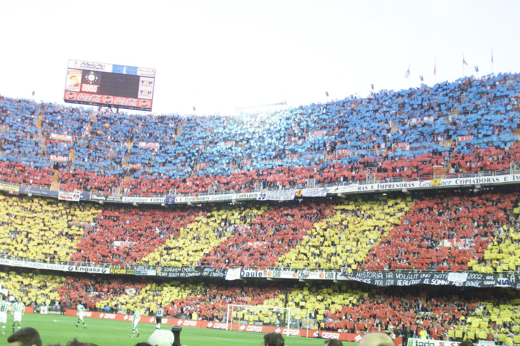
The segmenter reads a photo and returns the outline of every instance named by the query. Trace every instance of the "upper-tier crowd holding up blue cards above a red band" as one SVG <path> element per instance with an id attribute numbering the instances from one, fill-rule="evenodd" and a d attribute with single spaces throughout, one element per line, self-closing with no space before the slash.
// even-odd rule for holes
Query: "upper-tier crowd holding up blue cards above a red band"
<path id="1" fill-rule="evenodd" d="M 499 74 L 241 118 L 98 114 L 2 97 L 0 161 L 58 164 L 67 190 L 142 196 L 508 169 L 520 160 L 518 92 L 517 74 Z"/>

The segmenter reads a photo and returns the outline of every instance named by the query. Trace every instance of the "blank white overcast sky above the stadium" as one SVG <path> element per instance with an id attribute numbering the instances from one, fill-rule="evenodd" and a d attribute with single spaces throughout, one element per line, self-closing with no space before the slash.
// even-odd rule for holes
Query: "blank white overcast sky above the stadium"
<path id="1" fill-rule="evenodd" d="M 63 103 L 69 59 L 157 69 L 154 113 L 229 113 L 520 72 L 520 1 L 2 1 L 0 94 Z"/>

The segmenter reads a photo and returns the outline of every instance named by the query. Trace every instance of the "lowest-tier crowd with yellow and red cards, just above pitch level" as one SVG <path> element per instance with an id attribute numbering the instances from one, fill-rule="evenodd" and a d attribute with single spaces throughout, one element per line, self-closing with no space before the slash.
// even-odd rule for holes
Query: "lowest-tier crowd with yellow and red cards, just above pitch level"
<path id="1" fill-rule="evenodd" d="M 383 331 L 395 336 L 462 341 L 495 340 L 511 345 L 519 338 L 518 293 L 502 288 L 461 290 L 456 287 L 386 287 L 377 290 L 358 283 L 291 284 L 261 281 L 207 284 L 197 281 L 151 282 L 2 272 L 5 287 L 27 305 L 55 301 L 84 302 L 87 309 L 153 315 L 159 307 L 180 319 L 226 321 L 229 304 L 283 307 L 285 294 L 296 327 L 311 321 L 311 329 L 364 334 Z M 492 292 L 490 292 L 492 291 Z M 233 315 L 240 323 L 258 320 L 254 309 Z M 276 323 L 276 322 L 275 322 Z M 515 341 L 516 342 L 516 341 Z"/>

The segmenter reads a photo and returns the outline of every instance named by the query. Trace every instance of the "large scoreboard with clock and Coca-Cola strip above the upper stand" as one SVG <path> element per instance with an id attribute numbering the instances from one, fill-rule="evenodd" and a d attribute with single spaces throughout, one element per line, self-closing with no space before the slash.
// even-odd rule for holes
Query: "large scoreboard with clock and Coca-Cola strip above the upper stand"
<path id="1" fill-rule="evenodd" d="M 63 100 L 152 110 L 155 69 L 69 60 Z"/>

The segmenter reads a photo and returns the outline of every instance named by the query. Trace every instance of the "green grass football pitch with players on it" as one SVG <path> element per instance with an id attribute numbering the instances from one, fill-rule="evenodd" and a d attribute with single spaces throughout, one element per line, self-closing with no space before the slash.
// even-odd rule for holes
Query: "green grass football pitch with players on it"
<path id="1" fill-rule="evenodd" d="M 12 320 L 8 316 L 5 335 L 0 335 L 0 345 L 7 344 L 7 338 L 12 332 Z M 99 346 L 134 346 L 138 342 L 146 342 L 155 330 L 154 324 L 139 323 L 140 336 L 131 338 L 131 322 L 109 321 L 85 318 L 87 328 L 80 324 L 75 327 L 77 317 L 64 315 L 25 314 L 22 327 L 33 327 L 40 332 L 44 345 L 60 343 L 66 345 L 68 341 L 77 338 L 82 342 L 92 342 Z M 163 325 L 161 329 L 170 329 L 172 326 Z M 310 334 L 309 330 L 309 334 Z M 259 346 L 263 341 L 263 334 L 247 331 L 218 330 L 206 328 L 183 327 L 180 342 L 187 346 L 229 346 L 242 344 Z M 285 336 L 285 345 L 295 346 L 323 346 L 323 339 L 288 337 Z M 345 346 L 357 345 L 355 342 L 345 342 Z"/>

